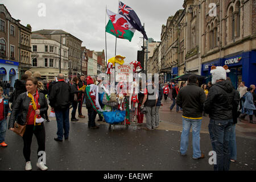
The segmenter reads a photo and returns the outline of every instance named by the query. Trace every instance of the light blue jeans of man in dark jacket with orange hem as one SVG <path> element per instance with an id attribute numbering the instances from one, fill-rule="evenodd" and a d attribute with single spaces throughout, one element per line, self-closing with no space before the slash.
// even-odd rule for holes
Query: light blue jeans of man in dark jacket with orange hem
<path id="1" fill-rule="evenodd" d="M 192 126 L 193 158 L 200 158 L 200 130 L 202 119 L 187 119 L 182 117 L 183 130 L 180 139 L 180 153 L 185 154 L 188 150 L 188 136 Z"/>

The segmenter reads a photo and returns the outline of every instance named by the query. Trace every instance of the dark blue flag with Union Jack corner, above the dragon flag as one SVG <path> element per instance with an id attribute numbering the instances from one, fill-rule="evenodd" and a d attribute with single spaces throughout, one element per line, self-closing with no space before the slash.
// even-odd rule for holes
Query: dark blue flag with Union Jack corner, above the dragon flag
<path id="1" fill-rule="evenodd" d="M 147 35 L 141 24 L 141 20 L 139 20 L 139 17 L 133 9 L 119 1 L 118 14 L 125 16 L 127 21 L 131 23 L 136 30 L 140 31 L 143 34 L 144 39 L 147 40 Z"/>

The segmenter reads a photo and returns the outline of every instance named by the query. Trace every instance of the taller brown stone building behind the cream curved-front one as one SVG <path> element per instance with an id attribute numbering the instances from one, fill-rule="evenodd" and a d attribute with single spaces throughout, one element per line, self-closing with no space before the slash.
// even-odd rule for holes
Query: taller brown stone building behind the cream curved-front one
<path id="1" fill-rule="evenodd" d="M 43 36 L 46 36 L 48 39 L 56 40 L 57 42 L 59 42 L 59 44 L 61 43 L 61 48 L 63 46 L 67 46 L 68 47 L 68 61 L 69 61 L 68 77 L 70 79 L 72 79 L 73 77 L 80 76 L 80 74 L 81 74 L 81 44 L 82 44 L 82 40 L 76 38 L 72 34 L 65 32 L 63 30 L 39 30 L 39 31 L 34 31 L 33 33 L 41 34 Z"/>

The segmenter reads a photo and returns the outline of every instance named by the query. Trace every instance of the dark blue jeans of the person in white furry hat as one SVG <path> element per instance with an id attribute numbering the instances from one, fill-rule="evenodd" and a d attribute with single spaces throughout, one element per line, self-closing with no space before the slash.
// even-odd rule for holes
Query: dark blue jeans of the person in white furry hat
<path id="1" fill-rule="evenodd" d="M 214 171 L 228 171 L 230 166 L 229 139 L 233 119 L 215 120 L 210 119 L 209 134 L 213 151 L 217 154 L 217 164 Z"/>

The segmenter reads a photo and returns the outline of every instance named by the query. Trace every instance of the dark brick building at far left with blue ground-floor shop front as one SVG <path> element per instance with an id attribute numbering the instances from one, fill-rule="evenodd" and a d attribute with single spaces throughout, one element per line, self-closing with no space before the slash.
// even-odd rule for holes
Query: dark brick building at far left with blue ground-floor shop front
<path id="1" fill-rule="evenodd" d="M 31 65 L 31 27 L 19 22 L 0 5 L 0 80 L 10 80 L 11 87 Z"/>

